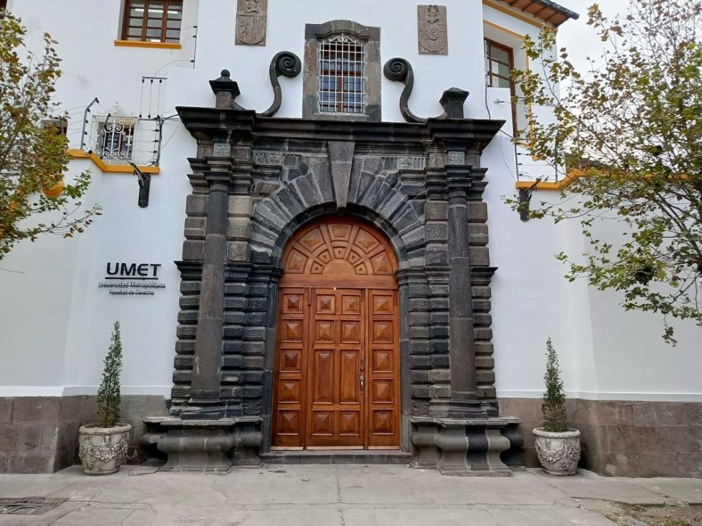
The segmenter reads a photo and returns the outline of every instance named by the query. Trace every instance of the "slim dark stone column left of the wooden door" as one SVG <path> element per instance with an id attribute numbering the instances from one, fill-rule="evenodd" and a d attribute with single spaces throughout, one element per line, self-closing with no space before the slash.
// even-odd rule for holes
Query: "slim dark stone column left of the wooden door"
<path id="1" fill-rule="evenodd" d="M 190 405 L 184 419 L 216 419 L 223 416 L 220 402 L 220 370 L 224 326 L 225 262 L 231 160 L 208 159 L 207 223 L 200 306 L 197 317 Z"/>

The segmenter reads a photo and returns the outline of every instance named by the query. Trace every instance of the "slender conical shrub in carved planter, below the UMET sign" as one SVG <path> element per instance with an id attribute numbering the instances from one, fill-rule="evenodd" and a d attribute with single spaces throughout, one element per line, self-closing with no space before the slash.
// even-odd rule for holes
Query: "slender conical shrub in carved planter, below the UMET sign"
<path id="1" fill-rule="evenodd" d="M 112 343 L 105 356 L 105 369 L 98 389 L 98 424 L 78 431 L 78 456 L 87 475 L 110 475 L 119 470 L 127 452 L 129 424 L 119 422 L 119 375 L 122 370 L 122 342 L 119 322 L 114 323 Z"/>

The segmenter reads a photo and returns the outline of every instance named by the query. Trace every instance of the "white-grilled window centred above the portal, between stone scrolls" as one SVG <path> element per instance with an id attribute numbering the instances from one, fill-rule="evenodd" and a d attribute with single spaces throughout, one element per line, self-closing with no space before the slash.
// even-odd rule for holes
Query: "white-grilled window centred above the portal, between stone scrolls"
<path id="1" fill-rule="evenodd" d="M 319 42 L 319 112 L 362 114 L 364 43 L 341 34 Z"/>

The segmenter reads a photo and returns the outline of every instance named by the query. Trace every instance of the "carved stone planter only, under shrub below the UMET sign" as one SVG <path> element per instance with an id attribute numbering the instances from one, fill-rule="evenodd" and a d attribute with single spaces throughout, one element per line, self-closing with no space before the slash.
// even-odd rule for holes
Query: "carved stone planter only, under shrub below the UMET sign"
<path id="1" fill-rule="evenodd" d="M 98 427 L 95 424 L 78 430 L 78 456 L 86 475 L 110 475 L 119 471 L 127 452 L 131 426 Z"/>

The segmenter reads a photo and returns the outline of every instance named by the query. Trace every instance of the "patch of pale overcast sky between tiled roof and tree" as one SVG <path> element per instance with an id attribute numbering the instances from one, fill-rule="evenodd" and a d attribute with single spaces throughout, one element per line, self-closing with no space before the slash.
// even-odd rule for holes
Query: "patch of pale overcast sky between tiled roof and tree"
<path id="1" fill-rule="evenodd" d="M 616 13 L 625 13 L 630 0 L 555 0 L 564 8 L 575 11 L 580 15 L 578 20 L 568 20 L 558 29 L 558 46 L 568 48 L 570 60 L 577 69 L 584 72 L 588 68 L 585 57 L 592 58 L 600 55 L 603 43 L 597 38 L 594 29 L 587 24 L 588 7 L 600 4 L 602 12 L 611 17 Z"/>

